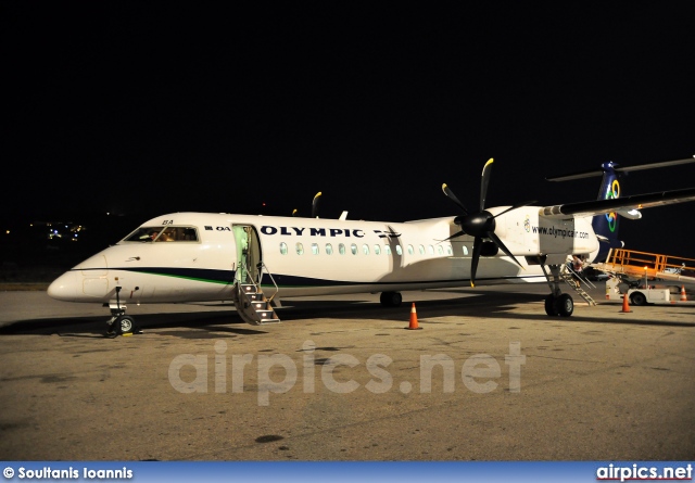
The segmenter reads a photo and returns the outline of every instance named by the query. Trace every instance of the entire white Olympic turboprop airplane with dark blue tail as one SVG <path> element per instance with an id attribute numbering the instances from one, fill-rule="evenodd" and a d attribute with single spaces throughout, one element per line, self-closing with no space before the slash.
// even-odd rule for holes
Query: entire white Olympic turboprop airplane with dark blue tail
<path id="1" fill-rule="evenodd" d="M 242 320 L 263 325 L 280 321 L 281 297 L 380 292 L 381 304 L 397 306 L 403 290 L 468 283 L 547 281 L 547 315 L 568 317 L 574 304 L 560 290 L 560 269 L 572 255 L 593 262 L 621 246 L 616 214 L 639 218 L 640 208 L 695 200 L 695 188 L 619 198 L 617 171 L 694 161 L 604 163 L 597 171 L 548 178 L 603 175 L 598 200 L 485 208 L 490 160 L 479 209 L 469 211 L 443 185 L 462 215 L 406 223 L 349 220 L 345 213 L 325 219 L 315 211 L 311 218 L 170 213 L 61 275 L 48 294 L 108 305 L 114 334 L 137 330 L 127 304 L 232 301 Z"/>

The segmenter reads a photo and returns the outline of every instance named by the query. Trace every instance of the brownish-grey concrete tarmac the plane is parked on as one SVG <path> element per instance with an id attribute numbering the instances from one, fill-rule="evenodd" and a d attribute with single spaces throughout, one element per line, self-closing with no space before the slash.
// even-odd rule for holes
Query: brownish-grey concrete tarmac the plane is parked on
<path id="1" fill-rule="evenodd" d="M 548 317 L 547 291 L 292 298 L 269 326 L 129 306 L 117 338 L 108 308 L 0 292 L 0 459 L 695 459 L 695 307 L 597 283 Z"/>

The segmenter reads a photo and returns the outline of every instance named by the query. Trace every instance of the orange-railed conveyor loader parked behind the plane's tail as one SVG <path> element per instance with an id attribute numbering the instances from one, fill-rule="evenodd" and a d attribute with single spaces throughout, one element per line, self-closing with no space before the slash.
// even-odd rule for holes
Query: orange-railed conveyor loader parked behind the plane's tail
<path id="1" fill-rule="evenodd" d="M 617 277 L 661 281 L 674 285 L 695 284 L 695 259 L 634 250 L 611 249 L 606 262 L 592 264 L 596 270 Z"/>

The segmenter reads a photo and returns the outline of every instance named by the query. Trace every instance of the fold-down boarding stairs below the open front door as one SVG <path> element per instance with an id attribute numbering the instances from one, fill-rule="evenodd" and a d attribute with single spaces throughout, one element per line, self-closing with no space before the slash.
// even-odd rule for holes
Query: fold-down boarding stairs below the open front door
<path id="1" fill-rule="evenodd" d="M 280 319 L 271 307 L 273 297 L 266 297 L 261 287 L 263 268 L 265 268 L 265 266 L 260 264 L 257 280 L 254 280 L 250 275 L 248 275 L 249 271 L 243 270 L 243 267 L 240 268 L 240 272 L 247 274 L 247 276 L 243 281 L 237 280 L 235 282 L 232 298 L 239 317 L 241 317 L 244 322 L 251 323 L 252 326 L 279 323 Z M 273 280 L 273 277 L 270 277 L 270 280 Z M 277 294 L 278 287 L 275 283 L 275 280 L 273 280 L 273 283 L 276 289 L 275 294 Z"/>

